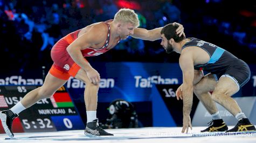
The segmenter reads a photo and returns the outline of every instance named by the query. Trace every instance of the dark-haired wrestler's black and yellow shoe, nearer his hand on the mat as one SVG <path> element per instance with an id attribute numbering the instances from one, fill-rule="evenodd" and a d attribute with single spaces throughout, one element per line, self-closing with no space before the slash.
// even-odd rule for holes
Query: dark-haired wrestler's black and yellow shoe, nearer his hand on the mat
<path id="1" fill-rule="evenodd" d="M 209 124 L 209 127 L 201 132 L 223 132 L 227 130 L 227 125 L 223 119 L 214 119 L 207 124 Z"/>

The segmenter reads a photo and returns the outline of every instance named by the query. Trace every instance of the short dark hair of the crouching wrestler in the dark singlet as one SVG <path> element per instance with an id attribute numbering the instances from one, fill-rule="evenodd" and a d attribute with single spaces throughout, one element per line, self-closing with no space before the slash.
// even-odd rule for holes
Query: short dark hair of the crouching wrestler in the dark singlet
<path id="1" fill-rule="evenodd" d="M 164 34 L 167 40 L 170 40 L 171 38 L 174 39 L 175 42 L 181 42 L 183 39 L 185 39 L 184 35 L 181 35 L 180 37 L 176 34 L 176 29 L 179 26 L 177 24 L 172 25 L 168 24 L 165 25 L 161 30 L 161 35 Z"/>

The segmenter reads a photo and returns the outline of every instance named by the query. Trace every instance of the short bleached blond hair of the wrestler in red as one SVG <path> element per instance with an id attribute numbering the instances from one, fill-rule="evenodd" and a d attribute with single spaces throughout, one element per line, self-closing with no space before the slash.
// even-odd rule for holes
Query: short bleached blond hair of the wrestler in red
<path id="1" fill-rule="evenodd" d="M 138 15 L 134 12 L 134 10 L 130 10 L 130 9 L 120 9 L 115 14 L 114 21 L 130 22 L 135 27 L 140 26 L 140 21 L 139 21 Z"/>

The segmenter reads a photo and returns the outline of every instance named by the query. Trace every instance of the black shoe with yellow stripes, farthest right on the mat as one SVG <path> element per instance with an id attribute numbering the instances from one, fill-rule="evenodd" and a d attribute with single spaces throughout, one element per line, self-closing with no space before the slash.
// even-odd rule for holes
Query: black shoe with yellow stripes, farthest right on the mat
<path id="1" fill-rule="evenodd" d="M 251 124 L 248 118 L 243 118 L 238 121 L 237 125 L 233 129 L 227 130 L 226 132 L 248 132 L 255 131 L 255 126 Z"/>

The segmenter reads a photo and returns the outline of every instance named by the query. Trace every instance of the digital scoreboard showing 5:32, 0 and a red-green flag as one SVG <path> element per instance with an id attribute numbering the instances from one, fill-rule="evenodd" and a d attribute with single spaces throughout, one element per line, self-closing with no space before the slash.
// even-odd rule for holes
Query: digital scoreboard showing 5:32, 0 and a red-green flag
<path id="1" fill-rule="evenodd" d="M 37 86 L 0 86 L 0 110 L 8 110 Z M 84 130 L 85 125 L 65 87 L 50 99 L 43 99 L 19 113 L 13 132 Z M 5 133 L 0 124 L 0 133 Z"/>

